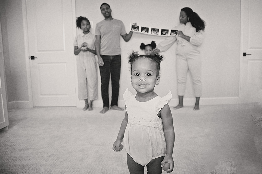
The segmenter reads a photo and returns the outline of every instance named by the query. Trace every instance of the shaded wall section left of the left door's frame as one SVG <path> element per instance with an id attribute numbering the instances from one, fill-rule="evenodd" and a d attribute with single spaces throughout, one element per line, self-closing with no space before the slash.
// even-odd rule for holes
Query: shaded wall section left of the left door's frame
<path id="1" fill-rule="evenodd" d="M 1 28 L 8 104 L 28 103 L 21 0 L 1 0 Z"/>

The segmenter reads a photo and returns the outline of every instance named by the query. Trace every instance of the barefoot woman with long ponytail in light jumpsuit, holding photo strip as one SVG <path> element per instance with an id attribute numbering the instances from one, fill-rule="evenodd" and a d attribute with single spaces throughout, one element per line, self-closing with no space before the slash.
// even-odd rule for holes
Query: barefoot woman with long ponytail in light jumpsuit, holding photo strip
<path id="1" fill-rule="evenodd" d="M 180 24 L 174 27 L 178 31 L 178 36 L 169 36 L 154 49 L 154 52 L 163 52 L 169 49 L 177 41 L 176 49 L 176 71 L 177 90 L 179 104 L 174 109 L 183 107 L 183 97 L 187 72 L 189 71 L 194 84 L 196 103 L 194 110 L 199 110 L 199 99 L 202 93 L 201 84 L 201 56 L 200 46 L 204 40 L 205 23 L 197 13 L 189 7 L 181 9 L 179 16 Z"/>

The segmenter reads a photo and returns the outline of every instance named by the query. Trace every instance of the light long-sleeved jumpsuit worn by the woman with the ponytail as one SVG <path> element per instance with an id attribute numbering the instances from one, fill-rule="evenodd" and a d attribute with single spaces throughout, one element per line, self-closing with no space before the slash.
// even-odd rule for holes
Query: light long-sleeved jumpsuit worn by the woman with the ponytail
<path id="1" fill-rule="evenodd" d="M 186 25 L 180 23 L 180 25 L 174 27 L 174 30 L 180 30 L 184 35 L 189 36 L 190 42 L 179 36 L 169 36 L 160 42 L 156 48 L 161 52 L 166 51 L 177 41 L 177 93 L 179 96 L 184 96 L 187 72 L 189 71 L 194 84 L 195 96 L 200 97 L 202 94 L 200 46 L 204 40 L 204 31 L 196 32 L 191 22 L 187 22 Z"/>

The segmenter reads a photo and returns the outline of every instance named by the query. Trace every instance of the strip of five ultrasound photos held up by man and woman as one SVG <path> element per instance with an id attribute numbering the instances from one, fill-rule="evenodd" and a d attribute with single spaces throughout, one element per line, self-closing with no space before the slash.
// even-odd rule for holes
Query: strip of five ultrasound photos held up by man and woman
<path id="1" fill-rule="evenodd" d="M 177 36 L 179 30 L 170 30 L 170 29 L 139 26 L 139 25 L 136 25 L 136 23 L 134 23 L 134 24 L 130 24 L 130 31 L 147 34 L 147 35 Z"/>

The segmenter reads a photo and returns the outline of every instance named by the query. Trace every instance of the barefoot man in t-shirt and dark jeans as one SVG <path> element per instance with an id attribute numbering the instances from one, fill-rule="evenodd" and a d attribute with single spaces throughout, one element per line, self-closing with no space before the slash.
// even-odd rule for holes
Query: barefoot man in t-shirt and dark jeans
<path id="1" fill-rule="evenodd" d="M 119 79 L 121 68 L 121 49 L 120 36 L 127 42 L 131 39 L 133 31 L 128 34 L 122 21 L 113 19 L 111 8 L 107 3 L 100 6 L 103 21 L 96 24 L 95 29 L 95 49 L 98 57 L 98 65 L 101 75 L 101 93 L 103 99 L 103 109 L 100 113 L 104 114 L 109 110 L 108 86 L 111 74 L 112 100 L 110 109 L 123 111 L 118 107 Z"/>

